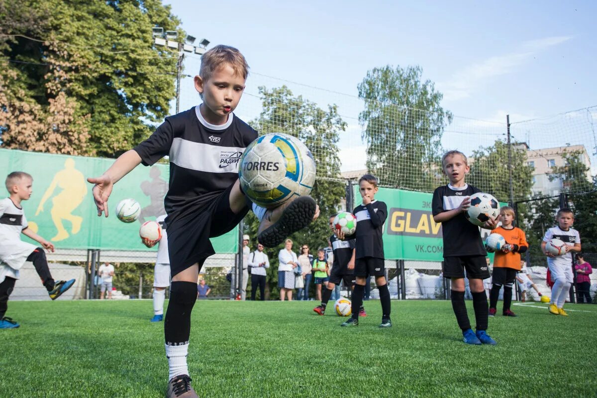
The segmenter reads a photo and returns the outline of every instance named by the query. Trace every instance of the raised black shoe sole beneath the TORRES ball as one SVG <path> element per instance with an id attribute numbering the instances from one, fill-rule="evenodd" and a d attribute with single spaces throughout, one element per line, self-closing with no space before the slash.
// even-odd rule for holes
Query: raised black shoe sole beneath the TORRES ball
<path id="1" fill-rule="evenodd" d="M 278 246 L 288 235 L 308 226 L 316 209 L 317 204 L 310 196 L 299 196 L 275 209 L 267 209 L 259 224 L 257 240 L 267 248 Z"/>

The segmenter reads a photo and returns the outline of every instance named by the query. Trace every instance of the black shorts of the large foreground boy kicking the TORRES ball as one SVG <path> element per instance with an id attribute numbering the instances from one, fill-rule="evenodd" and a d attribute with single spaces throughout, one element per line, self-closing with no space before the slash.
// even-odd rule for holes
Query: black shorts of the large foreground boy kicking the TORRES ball
<path id="1" fill-rule="evenodd" d="M 230 191 L 233 184 L 207 205 L 185 206 L 183 211 L 168 214 L 165 220 L 168 231 L 168 254 L 172 276 L 195 263 L 199 270 L 205 259 L 215 254 L 210 237 L 230 232 L 247 215 L 247 205 L 238 214 L 230 209 Z"/>

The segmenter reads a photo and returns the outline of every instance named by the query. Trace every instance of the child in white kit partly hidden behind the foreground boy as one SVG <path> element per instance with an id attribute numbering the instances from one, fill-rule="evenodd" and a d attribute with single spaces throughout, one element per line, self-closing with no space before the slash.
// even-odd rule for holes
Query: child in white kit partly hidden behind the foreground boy
<path id="1" fill-rule="evenodd" d="M 168 257 L 168 233 L 166 232 L 166 215 L 155 219 L 162 227 L 162 237 L 158 240 L 141 238 L 143 245 L 151 248 L 159 243 L 158 257 L 153 268 L 153 318 L 150 322 L 161 322 L 164 319 L 164 301 L 166 288 L 170 286 L 170 257 Z"/>

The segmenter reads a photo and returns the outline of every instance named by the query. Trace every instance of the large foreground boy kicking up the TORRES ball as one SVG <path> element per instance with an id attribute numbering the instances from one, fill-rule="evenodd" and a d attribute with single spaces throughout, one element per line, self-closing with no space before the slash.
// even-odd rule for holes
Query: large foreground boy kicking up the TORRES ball
<path id="1" fill-rule="evenodd" d="M 105 212 L 107 217 L 113 184 L 139 163 L 149 166 L 170 156 L 170 183 L 164 199 L 172 274 L 164 319 L 167 397 L 197 396 L 190 385 L 186 358 L 199 270 L 215 253 L 209 238 L 232 230 L 251 208 L 239 185 L 238 161 L 257 138 L 257 131 L 233 114 L 247 75 L 247 61 L 236 48 L 218 45 L 207 51 L 194 79 L 203 103 L 169 116 L 151 137 L 116 159 L 101 177 L 87 180 L 95 184 L 97 214 Z M 253 211 L 261 221 L 257 237 L 267 246 L 278 245 L 319 212 L 309 196 L 273 209 L 253 205 Z"/>

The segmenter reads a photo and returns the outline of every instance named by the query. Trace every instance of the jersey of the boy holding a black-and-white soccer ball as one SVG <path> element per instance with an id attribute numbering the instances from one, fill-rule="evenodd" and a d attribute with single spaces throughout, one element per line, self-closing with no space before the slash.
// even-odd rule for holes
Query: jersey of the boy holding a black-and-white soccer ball
<path id="1" fill-rule="evenodd" d="M 437 187 L 431 202 L 433 215 L 458 208 L 464 198 L 481 192 L 469 184 L 453 187 L 450 184 Z M 464 217 L 464 212 L 442 223 L 444 238 L 444 257 L 459 255 L 487 255 L 479 227 Z"/>

